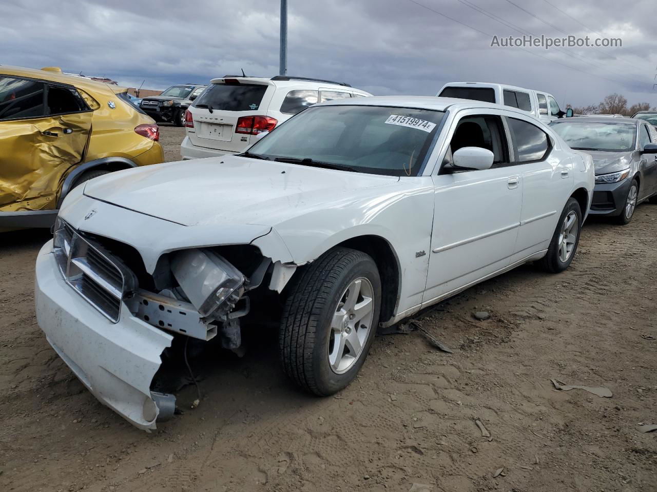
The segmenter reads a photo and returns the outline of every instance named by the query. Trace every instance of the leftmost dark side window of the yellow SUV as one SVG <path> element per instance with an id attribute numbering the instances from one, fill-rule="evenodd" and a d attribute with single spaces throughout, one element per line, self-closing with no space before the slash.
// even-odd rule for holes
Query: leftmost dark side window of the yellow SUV
<path id="1" fill-rule="evenodd" d="M 0 119 L 43 116 L 43 89 L 41 82 L 0 75 Z"/>

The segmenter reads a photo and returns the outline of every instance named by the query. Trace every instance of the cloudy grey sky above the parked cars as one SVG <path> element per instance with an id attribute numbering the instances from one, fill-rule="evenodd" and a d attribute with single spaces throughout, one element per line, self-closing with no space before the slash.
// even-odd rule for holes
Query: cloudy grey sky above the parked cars
<path id="1" fill-rule="evenodd" d="M 3 2 L 0 64 L 148 89 L 241 69 L 277 75 L 279 9 L 279 0 Z M 612 92 L 657 105 L 655 15 L 654 0 L 288 0 L 288 74 L 374 94 L 496 81 L 574 106 Z M 622 47 L 491 47 L 494 35 L 523 34 L 620 37 Z"/>

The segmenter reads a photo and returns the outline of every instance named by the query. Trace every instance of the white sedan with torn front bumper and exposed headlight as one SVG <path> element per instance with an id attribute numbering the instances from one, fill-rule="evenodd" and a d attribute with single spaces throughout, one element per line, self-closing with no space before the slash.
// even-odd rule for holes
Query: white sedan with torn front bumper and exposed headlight
<path id="1" fill-rule="evenodd" d="M 217 138 L 234 130 L 200 124 Z M 37 258 L 37 319 L 83 384 L 139 428 L 173 415 L 175 396 L 154 382 L 163 358 L 190 340 L 239 354 L 258 318 L 279 326 L 284 371 L 329 395 L 353 380 L 379 325 L 530 260 L 567 268 L 594 179 L 589 156 L 520 110 L 328 102 L 244 154 L 73 190 Z"/>

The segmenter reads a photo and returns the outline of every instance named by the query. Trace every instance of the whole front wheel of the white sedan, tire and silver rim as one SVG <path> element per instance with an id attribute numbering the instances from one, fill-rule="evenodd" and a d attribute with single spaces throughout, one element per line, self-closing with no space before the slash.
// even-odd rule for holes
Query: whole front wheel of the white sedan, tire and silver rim
<path id="1" fill-rule="evenodd" d="M 361 369 L 374 340 L 381 279 L 371 256 L 337 247 L 292 285 L 281 319 L 285 373 L 309 392 L 342 390 Z"/>

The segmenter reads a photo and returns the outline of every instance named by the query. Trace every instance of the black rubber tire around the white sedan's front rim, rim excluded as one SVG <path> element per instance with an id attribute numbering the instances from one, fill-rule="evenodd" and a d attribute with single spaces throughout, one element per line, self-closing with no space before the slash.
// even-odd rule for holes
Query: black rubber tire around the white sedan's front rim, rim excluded
<path id="1" fill-rule="evenodd" d="M 344 247 L 328 251 L 300 273 L 290 286 L 283 309 L 279 334 L 281 363 L 284 372 L 299 386 L 318 396 L 328 396 L 348 386 L 367 357 L 378 326 L 381 279 L 371 256 Z M 373 318 L 355 362 L 338 374 L 328 361 L 331 338 L 335 336 L 331 322 L 346 290 L 359 277 L 371 283 Z"/>

